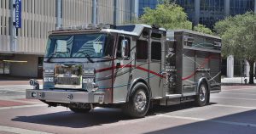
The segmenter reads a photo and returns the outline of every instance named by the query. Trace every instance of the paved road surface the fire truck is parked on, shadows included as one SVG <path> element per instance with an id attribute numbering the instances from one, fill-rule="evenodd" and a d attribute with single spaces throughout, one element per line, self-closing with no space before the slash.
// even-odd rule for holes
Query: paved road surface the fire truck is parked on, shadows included
<path id="1" fill-rule="evenodd" d="M 256 133 L 256 87 L 223 87 L 205 107 L 191 103 L 155 107 L 142 119 L 129 119 L 119 109 L 96 108 L 89 114 L 74 114 L 66 108 L 48 108 L 24 99 L 28 87 L 0 86 L 0 134 Z"/>

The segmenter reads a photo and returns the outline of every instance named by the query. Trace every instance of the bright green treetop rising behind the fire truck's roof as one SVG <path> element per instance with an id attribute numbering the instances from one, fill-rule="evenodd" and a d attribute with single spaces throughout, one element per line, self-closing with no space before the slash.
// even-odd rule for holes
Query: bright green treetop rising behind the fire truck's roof
<path id="1" fill-rule="evenodd" d="M 160 25 L 166 30 L 192 29 L 192 23 L 188 20 L 183 8 L 167 0 L 162 1 L 155 9 L 144 8 L 144 14 L 139 22 L 148 25 Z"/>

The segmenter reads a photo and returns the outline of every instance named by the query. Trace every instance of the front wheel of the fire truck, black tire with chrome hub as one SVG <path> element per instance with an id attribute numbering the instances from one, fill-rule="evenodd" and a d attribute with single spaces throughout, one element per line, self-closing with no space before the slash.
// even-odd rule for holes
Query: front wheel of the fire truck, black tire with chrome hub
<path id="1" fill-rule="evenodd" d="M 132 88 L 129 102 L 125 103 L 123 110 L 131 118 L 142 118 L 147 114 L 148 107 L 148 87 L 143 83 L 137 83 Z"/>

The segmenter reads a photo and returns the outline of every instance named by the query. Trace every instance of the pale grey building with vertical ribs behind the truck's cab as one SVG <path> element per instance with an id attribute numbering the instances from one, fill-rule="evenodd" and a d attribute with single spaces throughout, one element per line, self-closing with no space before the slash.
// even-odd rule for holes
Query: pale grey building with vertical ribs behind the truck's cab
<path id="1" fill-rule="evenodd" d="M 58 26 L 123 24 L 137 17 L 138 0 L 20 0 L 21 26 L 15 28 L 15 0 L 0 1 L 0 75 L 40 77 L 49 31 Z"/>

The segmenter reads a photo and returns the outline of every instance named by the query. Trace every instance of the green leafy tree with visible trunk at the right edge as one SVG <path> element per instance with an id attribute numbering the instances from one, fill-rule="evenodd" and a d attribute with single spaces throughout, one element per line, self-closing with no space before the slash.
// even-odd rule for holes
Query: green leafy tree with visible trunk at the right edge
<path id="1" fill-rule="evenodd" d="M 223 39 L 222 55 L 247 59 L 250 65 L 249 83 L 253 84 L 253 65 L 256 61 L 256 15 L 252 12 L 221 20 L 214 30 Z"/>

